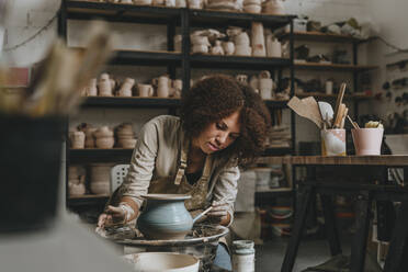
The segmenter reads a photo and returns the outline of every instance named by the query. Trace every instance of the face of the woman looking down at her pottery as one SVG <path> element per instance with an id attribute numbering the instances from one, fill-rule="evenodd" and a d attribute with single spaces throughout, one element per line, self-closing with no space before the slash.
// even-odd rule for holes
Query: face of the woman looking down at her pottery
<path id="1" fill-rule="evenodd" d="M 199 137 L 192 140 L 192 145 L 204 154 L 213 154 L 231 145 L 239 137 L 239 112 L 237 111 L 228 117 L 211 123 Z"/>

